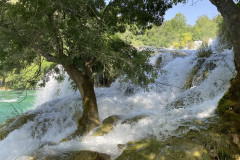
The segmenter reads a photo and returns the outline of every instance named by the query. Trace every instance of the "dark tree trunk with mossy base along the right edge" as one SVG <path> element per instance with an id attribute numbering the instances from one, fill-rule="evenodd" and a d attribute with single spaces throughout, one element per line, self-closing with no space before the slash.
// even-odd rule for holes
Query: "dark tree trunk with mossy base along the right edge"
<path id="1" fill-rule="evenodd" d="M 221 120 L 231 132 L 240 131 L 240 8 L 233 0 L 210 0 L 223 16 L 232 37 L 234 63 L 237 75 L 231 80 L 231 86 L 218 103 Z"/>

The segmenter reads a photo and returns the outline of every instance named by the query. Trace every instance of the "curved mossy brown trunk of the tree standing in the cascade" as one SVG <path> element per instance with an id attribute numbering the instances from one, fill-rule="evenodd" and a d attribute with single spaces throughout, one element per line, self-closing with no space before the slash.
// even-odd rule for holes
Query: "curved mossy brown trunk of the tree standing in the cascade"
<path id="1" fill-rule="evenodd" d="M 63 65 L 70 78 L 77 84 L 82 96 L 83 113 L 78 121 L 78 134 L 86 135 L 99 125 L 94 80 L 91 73 L 83 74 L 75 65 Z"/>

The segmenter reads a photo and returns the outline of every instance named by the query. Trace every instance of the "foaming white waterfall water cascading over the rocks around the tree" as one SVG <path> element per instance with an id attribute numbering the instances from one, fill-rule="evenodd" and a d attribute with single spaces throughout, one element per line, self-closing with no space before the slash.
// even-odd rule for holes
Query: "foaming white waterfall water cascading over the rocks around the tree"
<path id="1" fill-rule="evenodd" d="M 159 72 L 156 83 L 149 85 L 149 92 L 118 81 L 110 88 L 96 88 L 100 120 L 111 115 L 119 115 L 121 120 L 104 136 L 94 137 L 90 133 L 69 142 L 61 143 L 61 140 L 77 128 L 74 115 L 75 112 L 81 112 L 81 98 L 78 92 L 69 89 L 67 80 L 62 84 L 50 80 L 38 93 L 37 107 L 29 111 L 36 114 L 34 120 L 0 141 L 0 160 L 29 155 L 37 149 L 47 154 L 92 150 L 110 154 L 114 158 L 121 153 L 118 144 L 147 137 L 164 141 L 171 136 L 181 136 L 190 129 L 198 130 L 203 126 L 194 124 L 194 121 L 206 121 L 214 115 L 217 102 L 234 74 L 232 51 L 214 52 L 211 57 L 205 58 L 205 62 L 214 63 L 215 67 L 205 80 L 198 81 L 196 77 L 193 86 L 187 90 L 183 89 L 184 85 L 199 60 L 196 51 L 159 51 L 151 62 L 154 63 L 161 56 L 161 66 L 165 72 Z M 129 87 L 132 87 L 133 93 L 126 94 Z M 177 105 L 177 102 L 181 102 L 181 105 Z M 130 124 L 122 123 L 139 115 L 145 118 Z M 180 130 L 181 127 L 183 129 Z"/>

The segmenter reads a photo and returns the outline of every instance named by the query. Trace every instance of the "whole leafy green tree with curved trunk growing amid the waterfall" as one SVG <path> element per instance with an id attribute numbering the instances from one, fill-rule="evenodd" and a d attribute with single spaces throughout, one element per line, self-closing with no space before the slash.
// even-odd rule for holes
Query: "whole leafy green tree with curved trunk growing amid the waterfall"
<path id="1" fill-rule="evenodd" d="M 0 68 L 24 68 L 37 57 L 61 64 L 80 91 L 83 104 L 78 130 L 99 125 L 94 73 L 126 74 L 133 83 L 152 81 L 149 52 L 138 52 L 118 38 L 126 24 L 160 25 L 175 1 L 162 0 L 19 0 L 1 1 Z M 178 1 L 179 2 L 179 1 Z"/>

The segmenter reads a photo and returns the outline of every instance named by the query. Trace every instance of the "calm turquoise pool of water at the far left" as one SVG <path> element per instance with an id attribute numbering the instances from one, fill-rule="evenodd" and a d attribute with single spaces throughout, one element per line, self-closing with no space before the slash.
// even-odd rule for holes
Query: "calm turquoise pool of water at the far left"
<path id="1" fill-rule="evenodd" d="M 34 104 L 35 90 L 0 91 L 0 124 L 22 114 Z"/>

